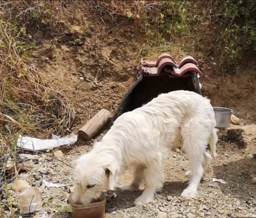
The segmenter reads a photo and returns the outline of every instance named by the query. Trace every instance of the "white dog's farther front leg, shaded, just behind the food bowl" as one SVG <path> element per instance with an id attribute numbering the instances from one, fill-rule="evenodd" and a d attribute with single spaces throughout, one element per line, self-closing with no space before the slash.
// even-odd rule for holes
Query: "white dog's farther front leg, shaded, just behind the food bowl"
<path id="1" fill-rule="evenodd" d="M 135 191 L 139 189 L 145 175 L 145 165 L 138 164 L 133 169 L 133 181 L 131 184 L 120 185 L 119 188 L 122 190 Z"/>

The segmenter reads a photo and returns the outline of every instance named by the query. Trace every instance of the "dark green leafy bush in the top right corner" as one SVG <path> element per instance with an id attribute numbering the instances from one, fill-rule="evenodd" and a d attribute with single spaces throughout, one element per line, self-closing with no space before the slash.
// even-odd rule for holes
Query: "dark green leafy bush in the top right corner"
<path id="1" fill-rule="evenodd" d="M 220 48 L 222 57 L 234 65 L 244 52 L 256 52 L 256 1 L 220 1 Z"/>

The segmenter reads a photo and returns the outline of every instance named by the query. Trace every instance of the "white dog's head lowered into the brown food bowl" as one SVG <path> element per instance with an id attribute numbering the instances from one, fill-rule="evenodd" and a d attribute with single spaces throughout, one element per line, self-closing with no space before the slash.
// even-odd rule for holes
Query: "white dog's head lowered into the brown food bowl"
<path id="1" fill-rule="evenodd" d="M 113 190 L 118 167 L 107 156 L 98 156 L 93 150 L 75 161 L 75 182 L 72 201 L 90 203 L 100 197 L 103 190 Z"/>

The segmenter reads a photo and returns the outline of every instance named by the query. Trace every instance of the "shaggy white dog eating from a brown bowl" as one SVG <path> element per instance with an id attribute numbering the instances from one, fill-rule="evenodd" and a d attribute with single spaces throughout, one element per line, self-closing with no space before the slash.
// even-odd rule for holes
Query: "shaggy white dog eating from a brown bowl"
<path id="1" fill-rule="evenodd" d="M 210 101 L 191 91 L 161 94 L 148 104 L 122 114 L 93 149 L 82 155 L 74 169 L 77 185 L 74 202 L 88 203 L 103 190 L 113 190 L 118 178 L 133 168 L 134 179 L 123 189 L 135 190 L 145 182 L 145 189 L 135 204 L 154 200 L 162 188 L 162 163 L 168 149 L 186 153 L 191 180 L 181 196 L 193 198 L 201 177 L 211 160 L 206 152 L 209 143 L 213 155 L 218 140 Z"/>

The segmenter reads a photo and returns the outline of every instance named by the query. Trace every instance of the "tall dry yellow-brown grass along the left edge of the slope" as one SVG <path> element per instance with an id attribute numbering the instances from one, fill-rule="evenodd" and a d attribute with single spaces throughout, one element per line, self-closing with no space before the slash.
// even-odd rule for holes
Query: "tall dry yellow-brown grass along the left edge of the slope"
<path id="1" fill-rule="evenodd" d="M 30 61 L 30 50 L 36 44 L 26 33 L 30 22 L 54 26 L 55 11 L 61 4 L 0 2 L 0 190 L 12 181 L 14 166 L 20 161 L 16 150 L 19 134 L 42 138 L 66 134 L 74 119 L 74 110 L 62 92 Z M 0 199 L 1 195 L 0 191 Z"/>

